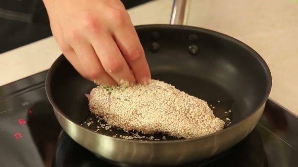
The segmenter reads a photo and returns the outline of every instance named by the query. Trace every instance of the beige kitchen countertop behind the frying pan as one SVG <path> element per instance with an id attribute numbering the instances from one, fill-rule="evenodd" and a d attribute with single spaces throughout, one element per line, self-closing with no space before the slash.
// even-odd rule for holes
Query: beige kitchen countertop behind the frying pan
<path id="1" fill-rule="evenodd" d="M 128 10 L 134 25 L 169 24 L 173 1 Z M 298 1 L 192 0 L 188 25 L 232 36 L 255 49 L 273 77 L 270 98 L 298 115 Z M 61 50 L 53 37 L 0 54 L 0 86 L 48 69 Z"/>

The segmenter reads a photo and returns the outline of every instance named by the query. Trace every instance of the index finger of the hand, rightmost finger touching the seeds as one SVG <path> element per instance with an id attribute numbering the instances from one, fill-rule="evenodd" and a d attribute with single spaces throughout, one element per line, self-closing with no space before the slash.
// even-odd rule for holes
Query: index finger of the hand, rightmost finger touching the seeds
<path id="1" fill-rule="evenodd" d="M 136 81 L 139 84 L 148 83 L 151 79 L 150 68 L 132 23 L 126 22 L 125 26 L 115 30 L 114 35 L 115 41 L 132 70 Z"/>

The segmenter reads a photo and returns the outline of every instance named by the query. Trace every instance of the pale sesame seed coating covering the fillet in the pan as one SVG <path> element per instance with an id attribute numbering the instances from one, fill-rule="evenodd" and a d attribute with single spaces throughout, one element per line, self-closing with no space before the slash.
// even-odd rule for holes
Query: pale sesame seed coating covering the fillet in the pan
<path id="1" fill-rule="evenodd" d="M 107 125 L 126 132 L 163 132 L 188 139 L 218 132 L 225 124 L 204 100 L 154 79 L 147 85 L 113 89 L 98 86 L 88 99 L 91 112 L 103 117 Z"/>

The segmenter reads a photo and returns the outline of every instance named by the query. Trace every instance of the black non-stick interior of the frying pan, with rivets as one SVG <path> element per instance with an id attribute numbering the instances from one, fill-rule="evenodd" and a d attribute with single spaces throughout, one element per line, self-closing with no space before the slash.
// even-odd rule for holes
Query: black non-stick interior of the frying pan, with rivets
<path id="1" fill-rule="evenodd" d="M 215 107 L 215 116 L 224 120 L 228 128 L 253 114 L 267 98 L 269 77 L 257 53 L 246 45 L 196 28 L 140 26 L 137 33 L 152 78 L 207 101 Z M 193 35 L 197 40 L 191 40 Z M 192 51 L 196 53 L 191 55 L 189 52 Z M 63 114 L 88 129 L 98 129 L 97 120 L 90 114 L 84 95 L 96 85 L 80 76 L 65 57 L 53 71 L 50 85 L 53 100 Z M 90 118 L 94 124 L 87 126 Z M 118 137 L 126 135 L 116 128 L 100 129 L 97 133 L 117 134 Z M 154 136 L 162 140 L 163 134 Z"/>

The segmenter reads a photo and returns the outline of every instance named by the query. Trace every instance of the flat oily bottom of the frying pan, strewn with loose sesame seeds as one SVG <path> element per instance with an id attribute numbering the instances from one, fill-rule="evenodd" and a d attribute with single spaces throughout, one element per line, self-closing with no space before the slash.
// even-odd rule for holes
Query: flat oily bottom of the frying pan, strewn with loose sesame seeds
<path id="1" fill-rule="evenodd" d="M 232 125 L 232 122 L 233 122 L 232 112 L 229 112 L 229 111 L 231 111 L 233 100 L 232 100 L 232 97 L 229 96 L 229 94 L 225 92 L 223 89 L 205 80 L 193 78 L 191 76 L 177 75 L 175 73 L 170 73 L 170 72 L 153 73 L 152 77 L 154 79 L 164 80 L 165 82 L 168 82 L 168 83 L 173 83 L 173 85 L 176 86 L 177 89 L 184 90 L 186 93 L 196 97 L 200 97 L 202 99 L 212 100 L 214 99 L 214 97 L 217 97 L 216 101 L 208 101 L 210 108 L 212 108 L 214 115 L 216 117 L 219 117 L 220 119 L 225 121 L 225 128 L 228 128 L 229 126 Z M 176 79 L 176 78 L 179 78 L 179 79 Z M 210 90 L 213 90 L 216 94 L 210 95 L 209 94 Z M 89 109 L 87 108 L 84 110 L 89 112 Z M 130 138 L 130 139 L 141 140 L 141 141 L 149 141 L 149 140 L 168 141 L 168 140 L 178 139 L 162 133 L 158 133 L 154 135 L 142 134 L 141 132 L 136 132 L 136 131 L 130 131 L 126 133 L 122 129 L 107 126 L 105 121 L 96 118 L 94 114 L 90 114 L 88 118 L 84 120 L 83 123 L 81 123 L 81 125 L 94 132 L 117 137 L 117 138 Z M 180 139 L 184 139 L 184 138 L 180 138 Z"/>

